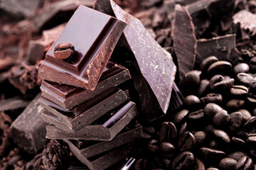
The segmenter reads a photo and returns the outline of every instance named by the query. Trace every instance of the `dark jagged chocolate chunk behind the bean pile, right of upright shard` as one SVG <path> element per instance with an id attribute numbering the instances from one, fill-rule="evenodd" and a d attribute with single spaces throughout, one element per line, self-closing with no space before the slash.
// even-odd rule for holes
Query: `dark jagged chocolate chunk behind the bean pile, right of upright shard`
<path id="1" fill-rule="evenodd" d="M 238 49 L 235 47 L 235 34 L 197 41 L 196 63 L 199 66 L 204 59 L 210 56 L 235 64 L 239 55 Z"/>

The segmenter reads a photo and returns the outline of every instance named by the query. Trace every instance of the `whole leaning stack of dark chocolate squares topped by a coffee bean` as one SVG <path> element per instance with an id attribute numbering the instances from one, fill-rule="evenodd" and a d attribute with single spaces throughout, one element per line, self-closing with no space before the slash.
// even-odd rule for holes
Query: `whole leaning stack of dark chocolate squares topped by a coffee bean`
<path id="1" fill-rule="evenodd" d="M 46 137 L 62 139 L 90 169 L 106 169 L 132 152 L 142 135 L 128 69 L 109 62 L 126 23 L 80 6 L 46 53 L 43 79 Z M 118 157 L 117 157 L 118 153 Z"/>

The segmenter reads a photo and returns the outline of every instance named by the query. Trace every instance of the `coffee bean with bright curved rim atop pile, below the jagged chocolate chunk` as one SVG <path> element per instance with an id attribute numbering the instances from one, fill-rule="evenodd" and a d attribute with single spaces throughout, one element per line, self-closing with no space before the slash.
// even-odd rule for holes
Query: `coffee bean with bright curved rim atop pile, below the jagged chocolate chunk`
<path id="1" fill-rule="evenodd" d="M 208 75 L 216 75 L 216 74 L 229 74 L 232 70 L 232 64 L 230 62 L 226 61 L 218 61 L 214 62 L 213 64 L 210 64 L 210 67 L 208 68 L 207 72 Z"/>

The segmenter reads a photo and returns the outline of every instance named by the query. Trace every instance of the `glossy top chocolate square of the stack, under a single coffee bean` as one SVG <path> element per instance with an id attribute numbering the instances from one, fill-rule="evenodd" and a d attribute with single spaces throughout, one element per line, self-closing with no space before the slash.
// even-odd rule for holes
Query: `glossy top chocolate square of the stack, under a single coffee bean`
<path id="1" fill-rule="evenodd" d="M 79 6 L 46 53 L 40 77 L 93 91 L 125 26 L 112 16 Z M 68 46 L 62 48 L 64 42 Z M 69 49 L 75 52 L 67 60 L 56 55 Z"/>

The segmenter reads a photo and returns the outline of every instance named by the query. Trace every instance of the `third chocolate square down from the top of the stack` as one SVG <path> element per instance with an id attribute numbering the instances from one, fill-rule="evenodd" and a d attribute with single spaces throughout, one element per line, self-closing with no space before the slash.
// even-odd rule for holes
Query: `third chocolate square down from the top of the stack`
<path id="1" fill-rule="evenodd" d="M 85 125 L 90 125 L 92 122 L 100 118 L 105 113 L 111 111 L 125 101 L 129 100 L 127 94 L 122 90 L 112 88 L 99 94 L 89 101 L 75 106 L 69 111 L 61 108 L 57 104 L 49 101 L 41 96 L 39 102 L 50 113 L 56 115 L 60 120 L 65 123 L 71 131 L 78 131 Z"/>

